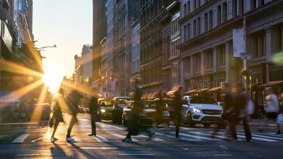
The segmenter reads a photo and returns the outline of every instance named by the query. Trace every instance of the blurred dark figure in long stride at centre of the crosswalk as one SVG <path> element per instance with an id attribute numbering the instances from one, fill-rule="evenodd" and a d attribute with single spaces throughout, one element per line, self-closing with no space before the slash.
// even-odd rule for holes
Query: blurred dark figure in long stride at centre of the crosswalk
<path id="1" fill-rule="evenodd" d="M 127 134 L 127 137 L 125 139 L 122 139 L 122 141 L 132 141 L 132 135 L 139 134 L 139 129 L 141 131 L 146 131 L 149 134 L 149 139 L 146 141 L 151 141 L 151 132 L 144 127 L 144 125 L 140 121 L 139 114 L 143 112 L 144 105 L 141 102 L 141 90 L 137 87 L 138 86 L 138 78 L 135 80 L 136 90 L 134 92 L 134 105 L 132 107 L 132 117 L 129 121 L 129 128 L 127 129 L 129 132 Z"/>

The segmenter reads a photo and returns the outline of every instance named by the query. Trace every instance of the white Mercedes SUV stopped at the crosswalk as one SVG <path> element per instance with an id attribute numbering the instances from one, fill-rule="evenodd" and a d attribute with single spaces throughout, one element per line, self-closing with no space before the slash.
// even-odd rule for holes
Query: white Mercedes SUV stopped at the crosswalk
<path id="1" fill-rule="evenodd" d="M 183 100 L 186 104 L 182 105 L 181 122 L 188 126 L 204 124 L 209 127 L 211 124 L 220 124 L 223 107 L 218 105 L 214 98 L 207 96 L 185 96 Z M 226 123 L 221 124 L 221 128 L 226 128 Z"/>

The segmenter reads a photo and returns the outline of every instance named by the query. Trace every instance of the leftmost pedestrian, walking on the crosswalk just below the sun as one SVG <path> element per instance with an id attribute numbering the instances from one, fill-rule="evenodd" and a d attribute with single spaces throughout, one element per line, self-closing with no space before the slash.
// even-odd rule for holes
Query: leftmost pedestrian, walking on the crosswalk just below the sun
<path id="1" fill-rule="evenodd" d="M 54 128 L 53 133 L 50 137 L 52 141 L 57 141 L 58 139 L 54 137 L 55 132 L 57 130 L 59 122 L 64 122 L 63 115 L 62 115 L 62 108 L 64 105 L 64 99 L 63 99 L 63 89 L 60 88 L 58 92 L 57 102 L 56 105 L 53 108 L 53 116 L 52 121 L 54 122 Z"/>

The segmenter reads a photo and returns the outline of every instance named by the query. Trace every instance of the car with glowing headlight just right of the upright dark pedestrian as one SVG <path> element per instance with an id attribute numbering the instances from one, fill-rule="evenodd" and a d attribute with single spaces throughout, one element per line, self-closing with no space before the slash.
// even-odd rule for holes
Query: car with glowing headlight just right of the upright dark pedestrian
<path id="1" fill-rule="evenodd" d="M 112 120 L 112 100 L 100 98 L 98 99 L 98 105 L 100 107 L 101 119 Z"/>

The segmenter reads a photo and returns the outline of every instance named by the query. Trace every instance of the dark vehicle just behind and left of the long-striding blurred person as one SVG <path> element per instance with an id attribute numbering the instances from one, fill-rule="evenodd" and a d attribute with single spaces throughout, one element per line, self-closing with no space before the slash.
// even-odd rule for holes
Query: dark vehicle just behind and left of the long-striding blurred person
<path id="1" fill-rule="evenodd" d="M 123 110 L 131 100 L 134 98 L 132 97 L 115 97 L 114 98 L 114 105 L 112 109 L 112 123 L 113 124 L 122 124 L 122 114 Z"/>

